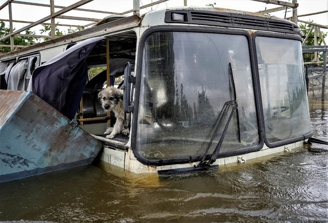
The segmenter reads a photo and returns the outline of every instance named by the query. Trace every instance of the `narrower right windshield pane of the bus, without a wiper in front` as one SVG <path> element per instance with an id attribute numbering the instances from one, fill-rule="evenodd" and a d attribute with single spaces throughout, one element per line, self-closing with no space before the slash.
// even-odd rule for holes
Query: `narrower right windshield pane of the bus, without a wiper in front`
<path id="1" fill-rule="evenodd" d="M 256 50 L 267 141 L 275 143 L 309 133 L 301 43 L 258 36 Z"/>

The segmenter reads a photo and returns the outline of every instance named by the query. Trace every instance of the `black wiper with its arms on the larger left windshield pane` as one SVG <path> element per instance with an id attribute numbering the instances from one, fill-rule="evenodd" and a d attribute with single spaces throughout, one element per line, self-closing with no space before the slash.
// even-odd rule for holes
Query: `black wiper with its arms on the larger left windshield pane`
<path id="1" fill-rule="evenodd" d="M 234 100 L 230 100 L 226 103 L 224 103 L 223 105 L 223 108 L 222 108 L 222 112 L 221 114 L 218 116 L 218 123 L 217 123 L 217 127 L 216 129 L 214 130 L 214 133 L 209 141 L 209 144 L 207 145 L 207 148 L 206 148 L 206 151 L 201 159 L 201 161 L 199 162 L 199 164 L 197 165 L 197 167 L 209 167 L 211 166 L 217 159 L 217 156 L 220 152 L 220 149 L 221 149 L 221 146 L 222 146 L 222 143 L 223 143 L 223 139 L 224 139 L 224 136 L 227 132 L 227 129 L 229 127 L 229 123 L 230 123 L 230 120 L 231 118 L 233 117 L 233 114 L 234 112 L 238 109 L 238 102 L 237 102 L 237 93 L 236 93 L 236 86 L 235 86 L 235 81 L 234 81 L 234 76 L 233 76 L 233 70 L 231 68 L 231 63 L 229 63 L 229 77 L 230 77 L 230 83 L 233 87 L 233 92 L 234 92 Z M 217 136 L 217 132 L 219 130 L 219 128 L 221 127 L 221 124 L 222 124 L 222 120 L 223 120 L 223 117 L 225 116 L 225 114 L 227 113 L 227 110 L 229 108 L 229 106 L 233 106 L 232 107 L 232 110 L 230 112 L 230 115 L 229 115 L 229 118 L 227 120 L 227 123 L 225 124 L 225 127 L 224 127 L 224 130 L 222 132 L 222 135 L 221 135 L 221 138 L 219 140 L 219 143 L 216 145 L 213 153 L 211 154 L 210 158 L 208 159 L 208 161 L 205 161 L 206 159 L 206 156 L 207 156 L 207 153 L 208 153 L 208 150 L 210 148 L 210 146 L 212 145 L 213 143 L 213 139 Z M 239 115 L 238 115 L 238 112 L 237 112 L 237 125 L 238 125 L 238 137 L 239 137 L 239 141 L 240 141 L 240 129 L 239 129 Z"/>

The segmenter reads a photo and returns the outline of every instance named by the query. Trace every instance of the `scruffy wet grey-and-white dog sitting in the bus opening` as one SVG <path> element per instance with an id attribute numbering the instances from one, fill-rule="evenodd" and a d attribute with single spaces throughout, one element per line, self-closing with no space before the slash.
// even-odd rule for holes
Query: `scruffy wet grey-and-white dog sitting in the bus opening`
<path id="1" fill-rule="evenodd" d="M 108 134 L 111 132 L 110 135 L 106 135 L 106 138 L 113 138 L 120 133 L 123 135 L 129 135 L 129 129 L 125 128 L 124 123 L 123 90 L 110 86 L 99 92 L 98 98 L 101 102 L 102 108 L 106 111 L 113 111 L 116 117 L 114 127 L 107 128 L 104 133 Z"/>

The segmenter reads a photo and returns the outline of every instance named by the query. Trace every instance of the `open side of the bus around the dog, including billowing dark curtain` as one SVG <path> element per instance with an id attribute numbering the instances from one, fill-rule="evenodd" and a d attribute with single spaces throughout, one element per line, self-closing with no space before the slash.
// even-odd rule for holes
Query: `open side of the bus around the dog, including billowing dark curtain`
<path id="1" fill-rule="evenodd" d="M 101 107 L 98 93 L 120 86 L 136 46 L 134 31 L 84 40 L 37 68 L 30 89 L 88 133 L 103 136 L 115 118 Z"/>

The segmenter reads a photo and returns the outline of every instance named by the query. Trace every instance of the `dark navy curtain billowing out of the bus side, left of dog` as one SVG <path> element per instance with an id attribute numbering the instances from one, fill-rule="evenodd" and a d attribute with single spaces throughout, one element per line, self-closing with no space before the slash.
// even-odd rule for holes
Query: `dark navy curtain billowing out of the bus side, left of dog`
<path id="1" fill-rule="evenodd" d="M 73 119 L 87 83 L 86 59 L 94 45 L 103 38 L 87 39 L 36 68 L 30 90 Z"/>

